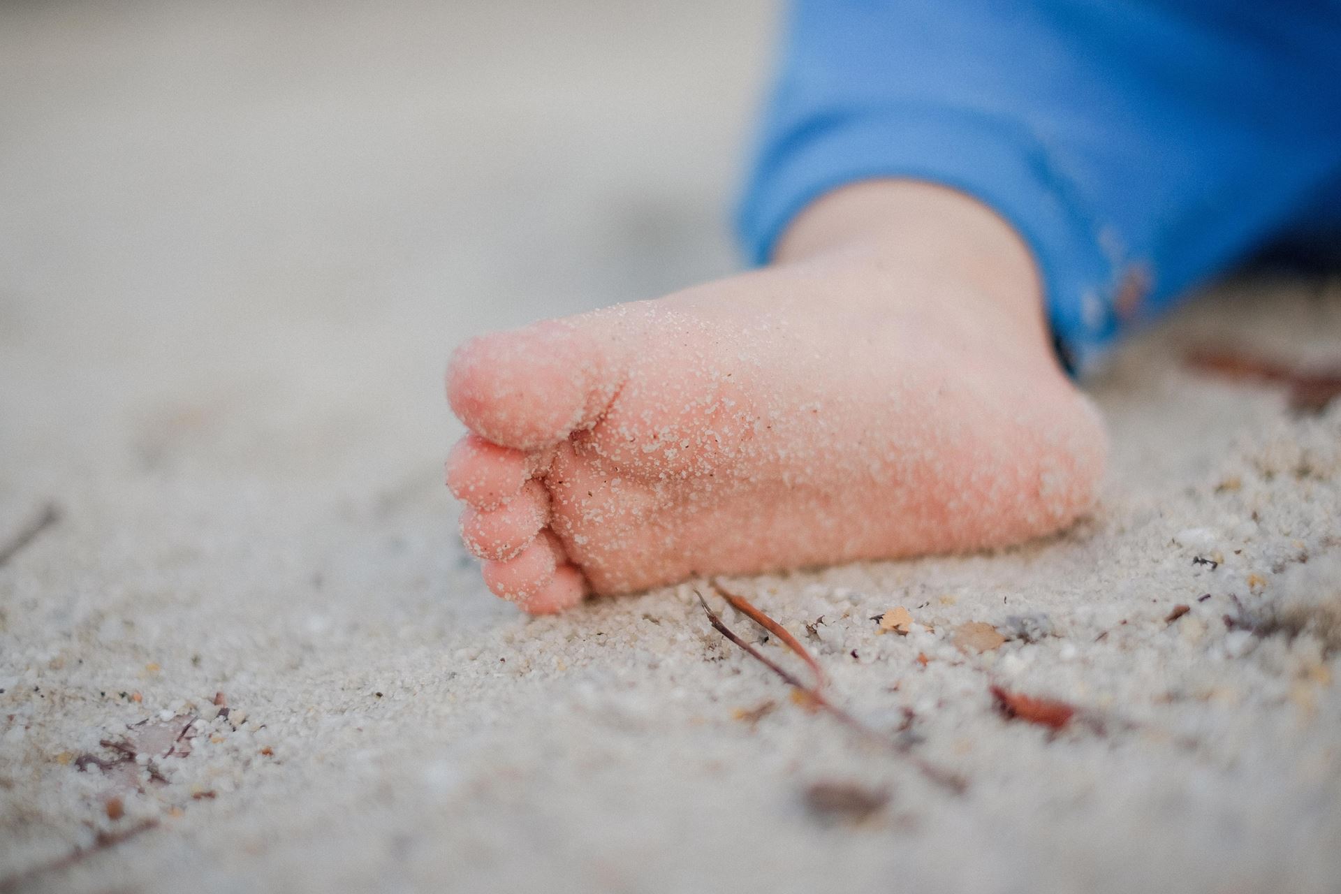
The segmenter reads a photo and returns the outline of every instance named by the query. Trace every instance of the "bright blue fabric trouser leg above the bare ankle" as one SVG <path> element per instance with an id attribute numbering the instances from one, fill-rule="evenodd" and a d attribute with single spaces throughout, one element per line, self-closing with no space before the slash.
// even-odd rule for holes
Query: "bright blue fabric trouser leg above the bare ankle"
<path id="1" fill-rule="evenodd" d="M 797 0 L 739 213 L 766 263 L 911 177 L 1029 243 L 1069 363 L 1271 243 L 1341 236 L 1336 0 Z"/>

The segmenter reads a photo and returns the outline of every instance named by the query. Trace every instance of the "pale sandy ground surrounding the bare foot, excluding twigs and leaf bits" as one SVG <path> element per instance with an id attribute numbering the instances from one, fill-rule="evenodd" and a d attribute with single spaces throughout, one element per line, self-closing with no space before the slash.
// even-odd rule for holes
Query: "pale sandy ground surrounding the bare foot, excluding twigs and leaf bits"
<path id="1" fill-rule="evenodd" d="M 0 890 L 1341 890 L 1341 406 L 1179 361 L 1336 359 L 1336 284 L 1126 348 L 1063 536 L 736 582 L 961 793 L 688 587 L 480 584 L 447 353 L 731 269 L 771 16 L 0 7 Z"/>

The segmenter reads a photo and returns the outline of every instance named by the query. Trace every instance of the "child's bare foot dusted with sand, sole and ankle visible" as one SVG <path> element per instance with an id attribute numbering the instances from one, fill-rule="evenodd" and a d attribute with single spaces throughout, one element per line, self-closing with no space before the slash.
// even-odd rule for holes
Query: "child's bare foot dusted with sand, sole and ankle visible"
<path id="1" fill-rule="evenodd" d="M 818 201 L 767 269 L 496 332 L 448 373 L 448 484 L 484 579 L 586 592 L 976 550 L 1093 501 L 1098 416 L 1023 244 L 937 186 Z"/>

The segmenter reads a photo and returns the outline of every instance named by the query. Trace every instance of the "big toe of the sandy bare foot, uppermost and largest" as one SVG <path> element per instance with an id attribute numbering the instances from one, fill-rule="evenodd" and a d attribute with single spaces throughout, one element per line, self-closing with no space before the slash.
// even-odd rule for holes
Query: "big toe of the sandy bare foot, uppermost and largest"
<path id="1" fill-rule="evenodd" d="M 493 332 L 457 348 L 452 411 L 495 444 L 535 450 L 590 426 L 618 387 L 610 344 L 590 318 Z"/>

